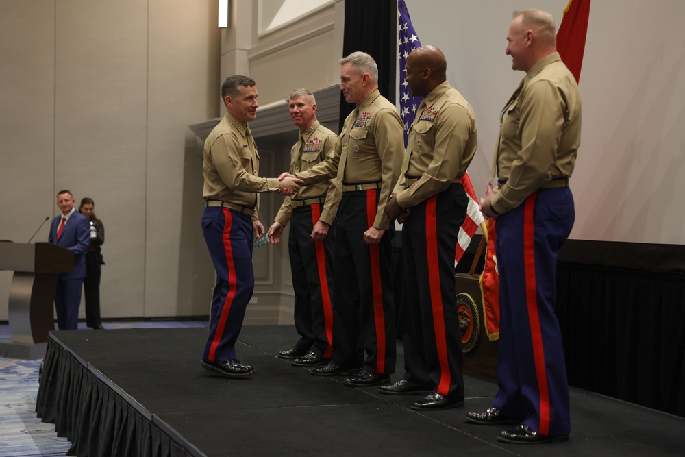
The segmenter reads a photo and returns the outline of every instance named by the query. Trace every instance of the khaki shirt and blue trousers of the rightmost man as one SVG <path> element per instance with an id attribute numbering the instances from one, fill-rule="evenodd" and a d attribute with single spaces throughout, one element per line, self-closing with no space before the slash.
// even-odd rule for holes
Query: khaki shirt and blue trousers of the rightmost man
<path id="1" fill-rule="evenodd" d="M 580 145 L 580 92 L 558 53 L 537 62 L 502 111 L 493 166 L 499 354 L 495 408 L 549 436 L 571 430 L 569 384 L 554 314 L 556 262 L 575 210 L 569 178 Z M 494 173 L 493 173 L 494 174 Z"/>

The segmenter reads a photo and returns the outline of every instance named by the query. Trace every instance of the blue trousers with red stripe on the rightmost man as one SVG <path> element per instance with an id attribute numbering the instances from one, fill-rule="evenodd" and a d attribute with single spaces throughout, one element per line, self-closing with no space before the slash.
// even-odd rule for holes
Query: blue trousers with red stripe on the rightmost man
<path id="1" fill-rule="evenodd" d="M 493 406 L 549 436 L 571 431 L 569 383 L 554 303 L 558 251 L 574 219 L 568 187 L 540 189 L 497 219 L 499 391 Z"/>

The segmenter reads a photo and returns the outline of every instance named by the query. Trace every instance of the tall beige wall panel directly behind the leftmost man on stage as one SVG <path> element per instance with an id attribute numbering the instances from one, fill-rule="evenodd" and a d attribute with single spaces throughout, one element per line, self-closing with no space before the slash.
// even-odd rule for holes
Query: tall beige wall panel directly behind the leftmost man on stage
<path id="1" fill-rule="evenodd" d="M 188 125 L 219 116 L 216 1 L 151 1 L 149 27 L 145 314 L 208 314 L 214 278 L 194 276 L 196 254 L 210 262 L 201 158 L 188 164 L 199 180 L 184 168 Z"/>

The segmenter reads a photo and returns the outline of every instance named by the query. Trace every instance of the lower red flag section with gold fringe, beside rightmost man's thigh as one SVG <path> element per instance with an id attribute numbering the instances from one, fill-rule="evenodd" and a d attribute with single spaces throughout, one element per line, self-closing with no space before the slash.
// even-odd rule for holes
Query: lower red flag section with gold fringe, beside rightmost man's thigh
<path id="1" fill-rule="evenodd" d="M 490 341 L 499 339 L 499 272 L 495 254 L 495 219 L 488 219 L 488 249 L 479 285 L 483 297 L 485 330 Z"/>

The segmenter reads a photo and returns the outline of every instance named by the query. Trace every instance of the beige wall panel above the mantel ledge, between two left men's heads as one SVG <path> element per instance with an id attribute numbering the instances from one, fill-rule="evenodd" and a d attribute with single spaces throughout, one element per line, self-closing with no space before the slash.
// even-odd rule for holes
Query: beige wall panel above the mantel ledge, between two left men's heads
<path id="1" fill-rule="evenodd" d="M 252 60 L 250 76 L 257 82 L 260 104 L 283 100 L 295 88 L 319 90 L 330 86 L 328 69 L 338 68 L 340 59 L 331 53 L 333 43 L 334 32 L 330 31 Z"/>

